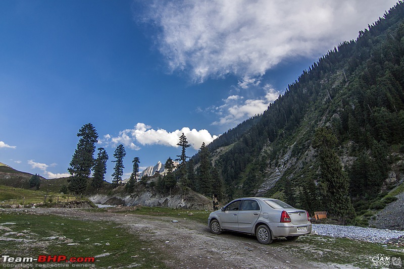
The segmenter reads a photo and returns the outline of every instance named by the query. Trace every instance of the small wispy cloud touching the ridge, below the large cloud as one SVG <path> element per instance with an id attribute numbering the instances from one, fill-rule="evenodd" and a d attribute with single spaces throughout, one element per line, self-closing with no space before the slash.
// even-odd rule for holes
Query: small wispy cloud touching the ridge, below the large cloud
<path id="1" fill-rule="evenodd" d="M 218 107 L 218 115 L 225 115 L 215 121 L 212 125 L 234 125 L 251 116 L 263 113 L 268 105 L 275 101 L 280 92 L 270 85 L 264 86 L 265 96 L 258 99 L 247 99 L 242 103 L 229 102 L 229 100 L 239 100 L 241 98 L 227 98 L 225 104 Z M 231 96 L 230 96 L 231 97 Z"/>

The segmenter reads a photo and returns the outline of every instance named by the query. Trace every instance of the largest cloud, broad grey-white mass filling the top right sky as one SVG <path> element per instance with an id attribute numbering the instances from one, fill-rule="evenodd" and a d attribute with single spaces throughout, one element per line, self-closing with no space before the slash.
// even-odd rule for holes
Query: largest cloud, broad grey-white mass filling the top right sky
<path id="1" fill-rule="evenodd" d="M 143 3 L 143 2 L 142 2 Z M 160 27 L 156 42 L 171 71 L 195 81 L 263 75 L 286 58 L 318 57 L 355 39 L 396 0 L 215 0 L 146 2 L 140 21 Z M 136 14 L 136 16 L 139 16 Z"/>

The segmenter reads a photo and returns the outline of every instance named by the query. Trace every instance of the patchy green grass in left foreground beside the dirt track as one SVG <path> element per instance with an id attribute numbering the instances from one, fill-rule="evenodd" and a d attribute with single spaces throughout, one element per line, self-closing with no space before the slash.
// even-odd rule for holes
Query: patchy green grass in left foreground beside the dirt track
<path id="1" fill-rule="evenodd" d="M 0 227 L 3 227 L 0 229 L 3 253 L 25 251 L 19 255 L 33 258 L 38 255 L 95 257 L 96 268 L 166 267 L 161 253 L 152 244 L 113 222 L 84 222 L 14 212 L 2 213 Z"/>

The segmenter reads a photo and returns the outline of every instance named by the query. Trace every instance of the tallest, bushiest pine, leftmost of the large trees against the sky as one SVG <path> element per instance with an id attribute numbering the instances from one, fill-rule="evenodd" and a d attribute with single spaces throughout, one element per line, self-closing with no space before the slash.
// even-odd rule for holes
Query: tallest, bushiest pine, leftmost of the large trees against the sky
<path id="1" fill-rule="evenodd" d="M 91 168 L 94 166 L 93 155 L 98 134 L 94 126 L 88 123 L 80 128 L 77 136 L 80 139 L 67 170 L 71 175 L 68 188 L 78 194 L 87 188 L 87 180 L 90 177 Z"/>

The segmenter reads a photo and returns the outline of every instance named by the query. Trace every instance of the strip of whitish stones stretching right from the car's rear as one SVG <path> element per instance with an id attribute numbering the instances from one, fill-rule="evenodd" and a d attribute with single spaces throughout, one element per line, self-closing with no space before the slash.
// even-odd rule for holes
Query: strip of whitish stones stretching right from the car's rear
<path id="1" fill-rule="evenodd" d="M 380 230 L 357 226 L 339 226 L 331 224 L 313 224 L 312 234 L 331 237 L 346 237 L 371 243 L 387 244 L 389 240 L 404 236 L 404 231 Z"/>

